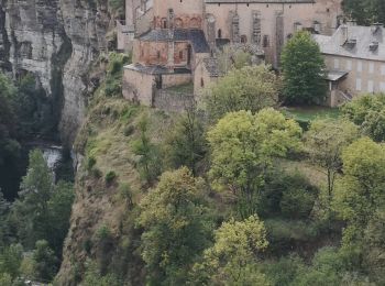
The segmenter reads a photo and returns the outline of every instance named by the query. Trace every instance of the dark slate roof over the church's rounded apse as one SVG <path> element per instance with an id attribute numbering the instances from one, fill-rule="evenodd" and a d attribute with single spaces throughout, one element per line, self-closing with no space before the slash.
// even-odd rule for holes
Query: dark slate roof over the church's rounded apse
<path id="1" fill-rule="evenodd" d="M 204 31 L 196 29 L 174 29 L 172 32 L 168 29 L 155 29 L 144 33 L 139 40 L 150 42 L 189 41 L 195 53 L 210 52 Z"/>

